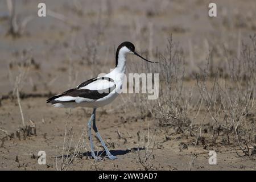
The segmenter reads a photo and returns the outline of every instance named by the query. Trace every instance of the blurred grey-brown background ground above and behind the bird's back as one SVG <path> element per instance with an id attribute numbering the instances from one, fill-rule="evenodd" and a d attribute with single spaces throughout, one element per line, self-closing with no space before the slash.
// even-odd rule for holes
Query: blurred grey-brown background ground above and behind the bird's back
<path id="1" fill-rule="evenodd" d="M 10 31 L 7 1 L 0 1 L 1 94 L 13 89 L 16 64 L 27 59 L 36 66 L 22 90 L 55 93 L 109 72 L 115 65 L 115 49 L 124 41 L 133 42 L 148 59 L 158 59 L 172 34 L 190 74 L 205 63 L 210 49 L 214 67 L 223 66 L 224 48 L 239 58 L 242 42 L 249 42 L 256 30 L 253 0 L 214 1 L 214 18 L 208 16 L 211 1 L 203 0 L 14 2 L 16 32 Z M 37 15 L 40 2 L 46 3 L 46 17 Z M 140 61 L 130 56 L 128 62 L 129 67 Z"/>

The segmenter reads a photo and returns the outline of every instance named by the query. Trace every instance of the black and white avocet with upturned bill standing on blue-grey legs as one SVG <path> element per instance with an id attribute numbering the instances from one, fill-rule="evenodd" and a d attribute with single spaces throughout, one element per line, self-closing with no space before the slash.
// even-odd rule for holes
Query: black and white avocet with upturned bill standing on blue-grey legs
<path id="1" fill-rule="evenodd" d="M 92 156 L 94 159 L 99 159 L 94 153 L 91 126 L 93 121 L 93 130 L 96 132 L 96 136 L 100 139 L 102 146 L 109 159 L 117 159 L 114 155 L 110 154 L 108 147 L 106 147 L 104 141 L 101 138 L 100 133 L 96 126 L 96 109 L 98 107 L 110 104 L 117 96 L 119 91 L 122 89 L 123 75 L 126 69 L 126 55 L 131 53 L 141 57 L 135 52 L 134 44 L 131 42 L 121 43 L 115 55 L 115 68 L 110 73 L 102 76 L 92 78 L 85 82 L 82 82 L 76 88 L 67 90 L 66 92 L 53 96 L 47 100 L 47 103 L 51 103 L 55 107 L 92 107 L 93 113 L 88 122 L 88 135 L 90 139 L 90 147 Z M 150 63 L 157 63 L 148 61 Z"/>

